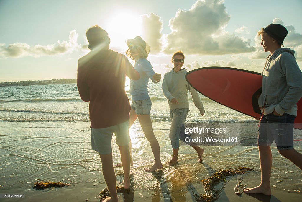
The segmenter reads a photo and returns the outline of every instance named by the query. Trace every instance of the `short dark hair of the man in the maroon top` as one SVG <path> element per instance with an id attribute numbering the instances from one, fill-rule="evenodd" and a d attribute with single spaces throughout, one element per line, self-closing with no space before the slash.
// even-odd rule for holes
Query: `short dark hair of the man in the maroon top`
<path id="1" fill-rule="evenodd" d="M 103 42 L 105 36 L 108 36 L 107 31 L 97 24 L 86 30 L 86 37 L 91 46 L 96 46 Z"/>

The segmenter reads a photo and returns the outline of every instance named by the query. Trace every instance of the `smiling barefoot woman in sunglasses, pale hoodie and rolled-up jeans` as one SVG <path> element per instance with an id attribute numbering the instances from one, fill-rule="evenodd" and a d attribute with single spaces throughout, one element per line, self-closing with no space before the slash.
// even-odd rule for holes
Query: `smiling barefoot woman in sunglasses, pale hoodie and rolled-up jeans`
<path id="1" fill-rule="evenodd" d="M 185 79 L 187 70 L 182 69 L 184 60 L 185 56 L 182 51 L 174 53 L 171 60 L 174 67 L 170 72 L 165 73 L 162 80 L 162 92 L 168 99 L 171 118 L 169 137 L 173 148 L 173 158 L 168 165 L 175 165 L 178 161 L 179 139 L 185 142 L 186 137 L 191 138 L 185 134 L 185 119 L 189 112 L 188 90 L 192 94 L 194 105 L 199 109 L 201 116 L 204 116 L 205 112 L 197 91 Z M 198 161 L 201 162 L 204 149 L 198 147 L 195 142 L 190 142 L 190 146 L 197 151 Z"/>

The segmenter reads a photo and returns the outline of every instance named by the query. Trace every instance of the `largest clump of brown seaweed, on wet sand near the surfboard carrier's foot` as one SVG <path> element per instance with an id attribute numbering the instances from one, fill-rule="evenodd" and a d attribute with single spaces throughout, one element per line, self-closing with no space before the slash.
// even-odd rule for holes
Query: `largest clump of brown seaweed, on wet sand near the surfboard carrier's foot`
<path id="1" fill-rule="evenodd" d="M 213 175 L 211 177 L 208 177 L 201 181 L 202 185 L 204 186 L 205 194 L 201 194 L 201 195 L 194 194 L 196 200 L 197 201 L 217 200 L 220 197 L 220 193 L 223 191 L 223 189 L 226 185 L 226 182 L 227 182 L 226 177 L 233 176 L 235 174 L 244 174 L 249 171 L 253 171 L 253 169 L 246 168 L 246 167 L 239 167 L 237 169 L 232 168 L 232 169 L 220 170 L 216 173 L 213 173 Z M 214 187 L 217 184 L 219 184 L 221 181 L 223 181 L 223 186 L 221 187 L 221 189 L 220 190 L 215 189 Z"/>

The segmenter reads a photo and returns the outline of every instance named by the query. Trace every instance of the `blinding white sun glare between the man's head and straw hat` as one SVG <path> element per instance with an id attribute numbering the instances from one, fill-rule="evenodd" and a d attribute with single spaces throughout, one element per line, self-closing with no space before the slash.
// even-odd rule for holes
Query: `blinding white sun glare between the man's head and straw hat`
<path id="1" fill-rule="evenodd" d="M 131 11 L 117 11 L 108 16 L 104 29 L 111 38 L 111 46 L 126 47 L 125 41 L 141 34 L 140 16 Z"/>

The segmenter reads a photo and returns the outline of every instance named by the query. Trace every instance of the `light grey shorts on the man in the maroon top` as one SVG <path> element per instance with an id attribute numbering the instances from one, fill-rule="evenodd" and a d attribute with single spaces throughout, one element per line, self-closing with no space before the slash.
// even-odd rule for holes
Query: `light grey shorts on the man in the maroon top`
<path id="1" fill-rule="evenodd" d="M 116 143 L 119 146 L 128 145 L 129 136 L 129 120 L 113 125 L 107 128 L 90 128 L 91 129 L 91 148 L 99 154 L 106 155 L 112 152 L 111 140 L 112 134 L 116 136 Z"/>

